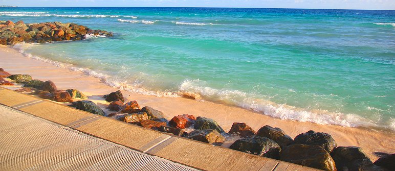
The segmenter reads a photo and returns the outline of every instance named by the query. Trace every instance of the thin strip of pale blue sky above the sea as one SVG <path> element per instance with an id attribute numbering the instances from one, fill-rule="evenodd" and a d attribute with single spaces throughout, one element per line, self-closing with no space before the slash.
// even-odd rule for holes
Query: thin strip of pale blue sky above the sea
<path id="1" fill-rule="evenodd" d="M 395 10 L 395 0 L 0 0 L 19 7 L 235 7 Z"/>

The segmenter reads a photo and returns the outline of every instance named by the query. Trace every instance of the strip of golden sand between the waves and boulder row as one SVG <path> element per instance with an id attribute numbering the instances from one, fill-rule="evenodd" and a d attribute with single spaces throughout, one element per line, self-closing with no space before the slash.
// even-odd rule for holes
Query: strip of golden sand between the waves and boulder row
<path id="1" fill-rule="evenodd" d="M 97 103 L 101 108 L 107 107 L 109 104 L 102 99 L 102 95 L 118 90 L 104 84 L 99 78 L 24 57 L 13 48 L 7 46 L 0 46 L 0 61 L 2 61 L 2 66 L 0 67 L 12 74 L 29 74 L 34 79 L 51 80 L 55 82 L 59 89 L 78 89 L 89 96 L 90 100 Z M 395 143 L 393 140 L 395 139 L 395 133 L 391 131 L 281 120 L 241 107 L 208 101 L 195 101 L 183 97 L 158 97 L 127 91 L 122 91 L 122 93 L 126 101 L 136 100 L 140 106 L 150 106 L 158 109 L 169 120 L 173 116 L 182 114 L 209 117 L 216 120 L 226 132 L 229 131 L 234 122 L 246 123 L 255 131 L 262 126 L 269 125 L 281 128 L 292 138 L 309 130 L 325 132 L 333 136 L 338 146 L 360 146 L 372 161 L 379 158 L 373 154 L 374 152 L 392 154 L 395 151 L 392 145 Z M 108 110 L 104 110 L 104 112 L 108 114 Z"/>

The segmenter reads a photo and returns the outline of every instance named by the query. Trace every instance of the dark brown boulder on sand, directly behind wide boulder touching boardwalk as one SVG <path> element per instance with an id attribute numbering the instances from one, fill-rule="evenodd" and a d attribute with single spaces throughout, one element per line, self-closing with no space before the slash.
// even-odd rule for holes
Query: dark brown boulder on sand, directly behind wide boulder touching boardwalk
<path id="1" fill-rule="evenodd" d="M 277 142 L 281 148 L 284 148 L 293 141 L 293 139 L 281 129 L 273 128 L 268 125 L 260 128 L 256 133 L 256 136 L 272 139 L 273 141 Z"/>

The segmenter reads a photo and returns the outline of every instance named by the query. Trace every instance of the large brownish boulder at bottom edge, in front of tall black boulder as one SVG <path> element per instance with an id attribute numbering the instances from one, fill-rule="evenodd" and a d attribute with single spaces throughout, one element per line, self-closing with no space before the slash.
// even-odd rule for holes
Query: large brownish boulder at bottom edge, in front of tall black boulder
<path id="1" fill-rule="evenodd" d="M 318 145 L 286 146 L 280 152 L 280 160 L 322 170 L 337 170 L 331 155 Z"/>

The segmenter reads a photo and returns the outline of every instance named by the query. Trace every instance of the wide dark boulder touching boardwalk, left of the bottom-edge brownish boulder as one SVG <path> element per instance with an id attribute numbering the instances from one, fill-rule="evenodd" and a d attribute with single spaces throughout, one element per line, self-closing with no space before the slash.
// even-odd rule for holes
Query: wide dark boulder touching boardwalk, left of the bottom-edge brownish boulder
<path id="1" fill-rule="evenodd" d="M 273 159 L 278 159 L 281 151 L 280 145 L 266 137 L 238 139 L 230 145 L 230 149 Z"/>

